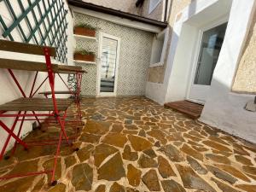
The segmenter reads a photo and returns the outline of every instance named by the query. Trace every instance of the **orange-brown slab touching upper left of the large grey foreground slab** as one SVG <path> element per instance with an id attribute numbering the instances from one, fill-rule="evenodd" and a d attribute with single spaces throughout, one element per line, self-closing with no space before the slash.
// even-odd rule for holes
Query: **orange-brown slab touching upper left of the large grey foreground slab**
<path id="1" fill-rule="evenodd" d="M 93 152 L 95 165 L 97 167 L 101 166 L 103 160 L 105 160 L 110 154 L 114 154 L 116 152 L 118 152 L 117 148 L 114 148 L 104 143 L 96 146 Z"/>

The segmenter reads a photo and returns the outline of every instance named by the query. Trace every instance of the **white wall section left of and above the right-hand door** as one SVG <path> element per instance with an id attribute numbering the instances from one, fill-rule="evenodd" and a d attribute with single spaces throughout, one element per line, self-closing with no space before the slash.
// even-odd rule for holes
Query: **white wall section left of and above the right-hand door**
<path id="1" fill-rule="evenodd" d="M 185 98 L 186 88 L 189 86 L 188 70 L 192 67 L 191 56 L 194 54 L 192 47 L 196 38 L 196 30 L 199 30 L 198 27 L 206 22 L 224 15 L 230 2 L 231 0 L 197 0 L 177 14 L 181 15 L 181 18 L 177 20 L 172 29 L 164 82 L 163 84 L 147 82 L 146 96 L 148 98 L 160 104 Z"/>

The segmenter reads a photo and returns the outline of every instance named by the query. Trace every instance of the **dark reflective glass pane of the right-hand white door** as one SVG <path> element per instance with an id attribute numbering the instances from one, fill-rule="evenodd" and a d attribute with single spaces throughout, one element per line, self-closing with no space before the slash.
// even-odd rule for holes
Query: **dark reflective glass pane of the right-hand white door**
<path id="1" fill-rule="evenodd" d="M 227 23 L 224 23 L 203 32 L 194 84 L 211 84 L 212 74 L 218 61 L 218 55 L 224 41 L 226 28 Z"/>

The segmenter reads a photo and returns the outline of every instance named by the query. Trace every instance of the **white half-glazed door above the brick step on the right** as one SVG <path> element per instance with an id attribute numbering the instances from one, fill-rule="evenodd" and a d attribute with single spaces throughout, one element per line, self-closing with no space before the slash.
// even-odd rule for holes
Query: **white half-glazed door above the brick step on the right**
<path id="1" fill-rule="evenodd" d="M 204 104 L 210 90 L 212 74 L 218 61 L 227 22 L 208 27 L 200 32 L 200 44 L 195 58 L 194 77 L 191 81 L 188 100 Z"/>

